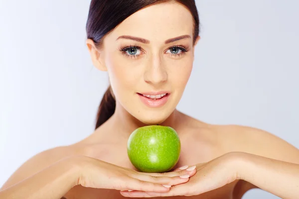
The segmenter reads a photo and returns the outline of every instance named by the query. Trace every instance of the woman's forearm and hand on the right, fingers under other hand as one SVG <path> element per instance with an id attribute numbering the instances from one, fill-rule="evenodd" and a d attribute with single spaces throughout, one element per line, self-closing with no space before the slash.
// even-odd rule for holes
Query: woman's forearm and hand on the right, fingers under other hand
<path id="1" fill-rule="evenodd" d="M 245 152 L 230 152 L 196 165 L 196 174 L 166 193 L 121 192 L 124 197 L 197 196 L 236 180 L 245 180 L 283 199 L 298 199 L 299 164 Z"/>

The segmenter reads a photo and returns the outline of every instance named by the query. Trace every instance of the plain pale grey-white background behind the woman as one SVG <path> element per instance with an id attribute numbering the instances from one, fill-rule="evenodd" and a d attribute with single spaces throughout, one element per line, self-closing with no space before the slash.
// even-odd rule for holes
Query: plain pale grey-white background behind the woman
<path id="1" fill-rule="evenodd" d="M 85 46 L 89 3 L 0 0 L 0 185 L 36 153 L 93 132 L 108 76 Z M 197 5 L 202 39 L 178 109 L 262 128 L 299 148 L 299 1 Z M 253 190 L 250 198 L 277 197 Z"/>

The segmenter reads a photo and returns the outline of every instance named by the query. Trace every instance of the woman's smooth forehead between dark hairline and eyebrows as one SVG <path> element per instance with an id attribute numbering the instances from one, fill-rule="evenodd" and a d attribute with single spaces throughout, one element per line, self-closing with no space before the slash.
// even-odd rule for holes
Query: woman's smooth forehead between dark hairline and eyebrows
<path id="1" fill-rule="evenodd" d="M 165 2 L 143 8 L 119 24 L 111 37 L 142 37 L 150 42 L 164 42 L 180 35 L 193 34 L 193 16 L 188 8 L 176 2 Z"/>

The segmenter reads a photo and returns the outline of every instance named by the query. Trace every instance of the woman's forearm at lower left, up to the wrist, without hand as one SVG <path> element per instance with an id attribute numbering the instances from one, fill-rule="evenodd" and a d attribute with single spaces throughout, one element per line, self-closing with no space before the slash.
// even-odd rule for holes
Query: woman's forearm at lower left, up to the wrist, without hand
<path id="1" fill-rule="evenodd" d="M 1 199 L 60 199 L 76 185 L 79 167 L 71 158 L 61 160 L 0 192 Z"/>

